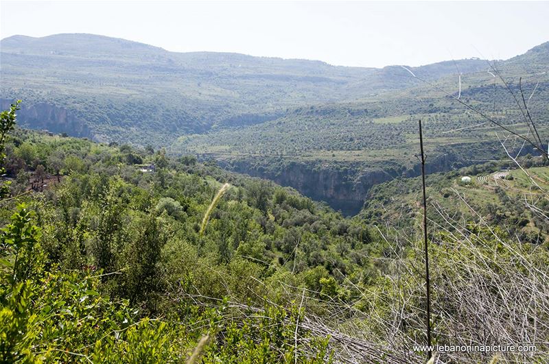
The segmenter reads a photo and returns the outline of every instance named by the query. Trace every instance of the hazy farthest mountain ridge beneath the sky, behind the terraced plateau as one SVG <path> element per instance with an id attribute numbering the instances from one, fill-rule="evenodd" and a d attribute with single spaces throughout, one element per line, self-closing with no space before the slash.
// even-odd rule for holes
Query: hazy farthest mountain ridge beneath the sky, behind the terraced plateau
<path id="1" fill-rule="evenodd" d="M 30 128 L 53 128 L 100 141 L 163 145 L 211 125 L 280 116 L 286 108 L 353 100 L 417 84 L 401 67 L 366 69 L 237 53 L 174 53 L 91 34 L 0 42 L 0 97 L 25 99 Z M 486 68 L 481 60 L 441 62 L 412 70 L 430 80 Z M 403 77 L 404 76 L 404 77 Z M 73 123 L 32 117 L 36 106 L 66 112 Z M 57 125 L 56 125 L 57 124 Z"/>

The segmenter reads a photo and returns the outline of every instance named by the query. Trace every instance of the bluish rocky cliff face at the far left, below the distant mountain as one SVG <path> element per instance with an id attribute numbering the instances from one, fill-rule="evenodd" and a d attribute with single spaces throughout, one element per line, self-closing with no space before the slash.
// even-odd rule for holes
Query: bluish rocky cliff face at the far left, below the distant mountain
<path id="1" fill-rule="evenodd" d="M 13 100 L 0 99 L 1 110 L 10 108 L 12 102 Z M 22 104 L 21 110 L 17 112 L 17 123 L 23 128 L 93 138 L 93 134 L 85 121 L 75 117 L 66 108 L 47 103 Z"/>

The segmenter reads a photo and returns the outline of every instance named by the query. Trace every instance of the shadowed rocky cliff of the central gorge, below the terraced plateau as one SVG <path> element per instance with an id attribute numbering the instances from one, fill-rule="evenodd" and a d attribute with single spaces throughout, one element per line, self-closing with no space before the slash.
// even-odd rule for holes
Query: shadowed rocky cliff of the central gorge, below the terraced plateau
<path id="1" fill-rule="evenodd" d="M 493 148 L 479 147 L 493 157 Z M 479 144 L 480 145 L 480 144 Z M 427 173 L 436 173 L 459 169 L 474 164 L 471 158 L 464 158 L 470 145 L 441 147 L 430 154 Z M 482 156 L 479 156 L 481 158 Z M 415 158 L 414 158 L 415 159 Z M 364 199 L 372 186 L 399 177 L 417 177 L 421 173 L 419 161 L 412 165 L 388 160 L 382 164 L 364 165 L 363 163 L 305 163 L 279 160 L 218 160 L 221 167 L 246 173 L 255 177 L 273 180 L 283 186 L 291 186 L 307 197 L 324 201 L 344 215 L 356 215 L 364 205 Z"/>

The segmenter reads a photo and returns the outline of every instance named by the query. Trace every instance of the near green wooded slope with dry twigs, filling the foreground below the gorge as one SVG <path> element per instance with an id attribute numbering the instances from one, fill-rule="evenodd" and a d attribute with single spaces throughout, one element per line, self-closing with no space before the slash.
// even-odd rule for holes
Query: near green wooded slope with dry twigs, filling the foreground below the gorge
<path id="1" fill-rule="evenodd" d="M 162 149 L 8 134 L 0 141 L 0 361 L 425 357 L 414 348 L 425 342 L 425 292 L 413 224 L 394 230 L 366 212 L 344 218 L 292 189 Z M 546 186 L 534 192 L 546 199 Z M 399 188 L 387 191 L 413 208 L 416 183 Z M 373 202 L 385 198 L 378 192 Z M 497 345 L 506 337 L 537 350 L 503 352 L 503 360 L 543 363 L 549 348 L 535 337 L 548 335 L 540 324 L 549 317 L 547 241 L 475 220 L 463 213 L 456 221 L 466 226 L 446 229 L 430 222 L 434 339 Z M 493 357 L 439 354 L 456 363 Z"/>

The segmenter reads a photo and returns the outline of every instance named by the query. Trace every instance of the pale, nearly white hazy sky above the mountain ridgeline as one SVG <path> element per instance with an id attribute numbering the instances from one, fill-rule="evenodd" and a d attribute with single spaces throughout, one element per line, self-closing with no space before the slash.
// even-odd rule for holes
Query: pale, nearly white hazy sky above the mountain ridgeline
<path id="1" fill-rule="evenodd" d="M 0 12 L 1 38 L 92 33 L 345 66 L 506 59 L 549 40 L 549 1 L 1 1 Z"/>

